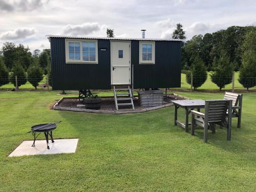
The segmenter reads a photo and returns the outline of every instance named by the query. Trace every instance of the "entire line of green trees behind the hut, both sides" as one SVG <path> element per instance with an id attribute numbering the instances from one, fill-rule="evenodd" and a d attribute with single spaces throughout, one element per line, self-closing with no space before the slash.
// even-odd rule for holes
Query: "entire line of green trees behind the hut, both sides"
<path id="1" fill-rule="evenodd" d="M 240 71 L 239 82 L 248 90 L 256 85 L 256 27 L 231 26 L 205 35 L 195 35 L 186 40 L 181 24 L 173 32 L 174 39 L 182 39 L 182 70 L 187 83 L 193 74 L 194 90 L 207 80 L 220 88 L 231 83 L 234 71 Z M 114 29 L 107 29 L 108 37 L 114 37 Z M 44 74 L 51 76 L 50 49 L 30 52 L 28 47 L 5 42 L 0 51 L 0 86 L 18 77 L 18 87 L 27 80 L 38 86 Z"/>

